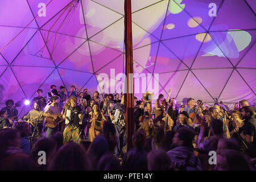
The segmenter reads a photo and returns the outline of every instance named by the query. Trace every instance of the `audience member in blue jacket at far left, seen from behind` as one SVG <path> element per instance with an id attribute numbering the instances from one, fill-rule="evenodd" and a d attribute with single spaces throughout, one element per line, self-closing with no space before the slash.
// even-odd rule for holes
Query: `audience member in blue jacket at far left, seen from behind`
<path id="1" fill-rule="evenodd" d="M 28 137 L 31 136 L 31 127 L 27 122 L 16 122 L 14 126 L 20 133 L 20 148 L 24 154 L 29 155 L 31 150 L 31 144 Z"/>

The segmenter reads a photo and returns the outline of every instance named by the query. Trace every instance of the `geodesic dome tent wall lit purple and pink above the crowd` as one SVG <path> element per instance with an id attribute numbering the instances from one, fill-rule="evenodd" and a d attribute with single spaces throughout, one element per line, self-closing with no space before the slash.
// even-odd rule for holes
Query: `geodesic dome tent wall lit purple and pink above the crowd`
<path id="1" fill-rule="evenodd" d="M 255 1 L 131 5 L 134 73 L 141 77 L 135 96 L 154 87 L 166 96 L 171 87 L 179 102 L 254 104 Z M 0 38 L 1 106 L 7 99 L 31 99 L 38 88 L 47 96 L 52 84 L 114 93 L 125 72 L 123 0 L 1 1 Z M 20 107 L 20 114 L 28 109 Z"/>

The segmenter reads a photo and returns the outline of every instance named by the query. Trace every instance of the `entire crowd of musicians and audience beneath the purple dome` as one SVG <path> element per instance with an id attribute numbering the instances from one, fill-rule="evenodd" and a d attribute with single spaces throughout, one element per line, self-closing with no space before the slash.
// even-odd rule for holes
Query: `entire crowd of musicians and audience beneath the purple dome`
<path id="1" fill-rule="evenodd" d="M 159 94 L 134 97 L 134 148 L 126 149 L 125 95 L 75 86 L 65 93 L 38 89 L 22 118 L 13 100 L 0 111 L 1 170 L 212 171 L 255 170 L 255 108 L 246 100 L 229 109 Z M 90 142 L 89 147 L 83 141 Z M 46 159 L 39 163 L 40 151 Z M 212 163 L 210 154 L 216 153 Z"/>

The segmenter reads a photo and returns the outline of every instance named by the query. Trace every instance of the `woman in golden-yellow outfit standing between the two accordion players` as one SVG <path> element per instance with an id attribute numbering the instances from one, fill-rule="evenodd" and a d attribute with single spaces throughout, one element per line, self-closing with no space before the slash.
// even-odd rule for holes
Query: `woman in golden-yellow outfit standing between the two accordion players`
<path id="1" fill-rule="evenodd" d="M 102 122 L 106 121 L 105 115 L 100 111 L 97 102 L 92 105 L 92 111 L 89 113 L 88 121 L 90 122 L 89 137 L 93 142 L 102 131 Z"/>

